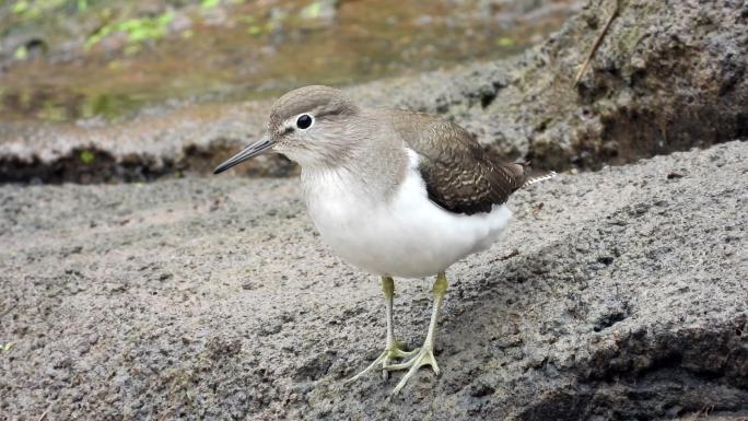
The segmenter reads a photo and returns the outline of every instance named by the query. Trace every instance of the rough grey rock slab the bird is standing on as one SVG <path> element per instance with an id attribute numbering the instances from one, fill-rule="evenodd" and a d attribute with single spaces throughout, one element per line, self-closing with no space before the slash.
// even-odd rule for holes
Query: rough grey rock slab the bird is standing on
<path id="1" fill-rule="evenodd" d="M 381 351 L 379 286 L 295 179 L 2 186 L 0 419 L 745 418 L 747 163 L 734 141 L 518 192 L 448 271 L 443 374 L 393 399 L 400 373 L 342 383 Z M 430 282 L 396 289 L 419 344 Z"/>

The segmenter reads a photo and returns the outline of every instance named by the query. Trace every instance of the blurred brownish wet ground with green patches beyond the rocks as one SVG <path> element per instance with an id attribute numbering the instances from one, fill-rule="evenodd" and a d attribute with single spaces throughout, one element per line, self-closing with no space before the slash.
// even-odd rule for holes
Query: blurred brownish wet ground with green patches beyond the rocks
<path id="1" fill-rule="evenodd" d="M 516 54 L 572 0 L 0 0 L 0 121 L 108 124 Z"/>

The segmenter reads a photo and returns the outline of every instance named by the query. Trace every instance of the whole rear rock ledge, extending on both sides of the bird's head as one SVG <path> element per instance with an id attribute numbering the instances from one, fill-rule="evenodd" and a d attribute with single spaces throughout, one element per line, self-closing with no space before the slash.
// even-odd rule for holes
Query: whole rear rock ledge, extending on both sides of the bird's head
<path id="1" fill-rule="evenodd" d="M 526 55 L 349 89 L 363 104 L 444 113 L 499 153 L 556 169 L 599 167 L 748 136 L 748 5 L 589 0 Z M 264 130 L 269 102 L 142 116 L 114 127 L 0 125 L 0 180 L 98 182 L 204 173 Z M 83 164 L 82 151 L 96 160 Z M 208 165 L 206 164 L 208 163 Z M 244 166 L 288 175 L 282 159 Z"/>

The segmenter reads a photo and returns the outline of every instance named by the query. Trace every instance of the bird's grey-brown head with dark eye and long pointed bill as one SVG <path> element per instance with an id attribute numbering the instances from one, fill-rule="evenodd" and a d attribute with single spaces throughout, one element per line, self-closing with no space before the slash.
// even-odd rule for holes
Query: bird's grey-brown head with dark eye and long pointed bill
<path id="1" fill-rule="evenodd" d="M 270 109 L 267 135 L 215 167 L 214 174 L 265 152 L 287 155 L 302 166 L 330 165 L 351 148 L 360 108 L 340 90 L 313 85 L 281 96 Z"/>

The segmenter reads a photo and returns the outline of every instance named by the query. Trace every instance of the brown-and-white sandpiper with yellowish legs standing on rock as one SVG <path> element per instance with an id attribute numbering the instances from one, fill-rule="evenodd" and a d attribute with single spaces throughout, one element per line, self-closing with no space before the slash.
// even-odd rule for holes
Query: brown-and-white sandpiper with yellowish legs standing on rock
<path id="1" fill-rule="evenodd" d="M 459 125 L 434 115 L 358 105 L 342 91 L 311 85 L 270 108 L 267 133 L 215 167 L 222 173 L 266 152 L 301 166 L 301 187 L 320 237 L 347 262 L 381 278 L 386 335 L 374 370 L 406 371 L 398 394 L 419 369 L 439 375 L 436 325 L 454 262 L 489 248 L 509 226 L 517 189 L 551 178 L 526 162 L 494 160 Z M 435 276 L 422 347 L 407 350 L 394 331 L 394 278 Z"/>

